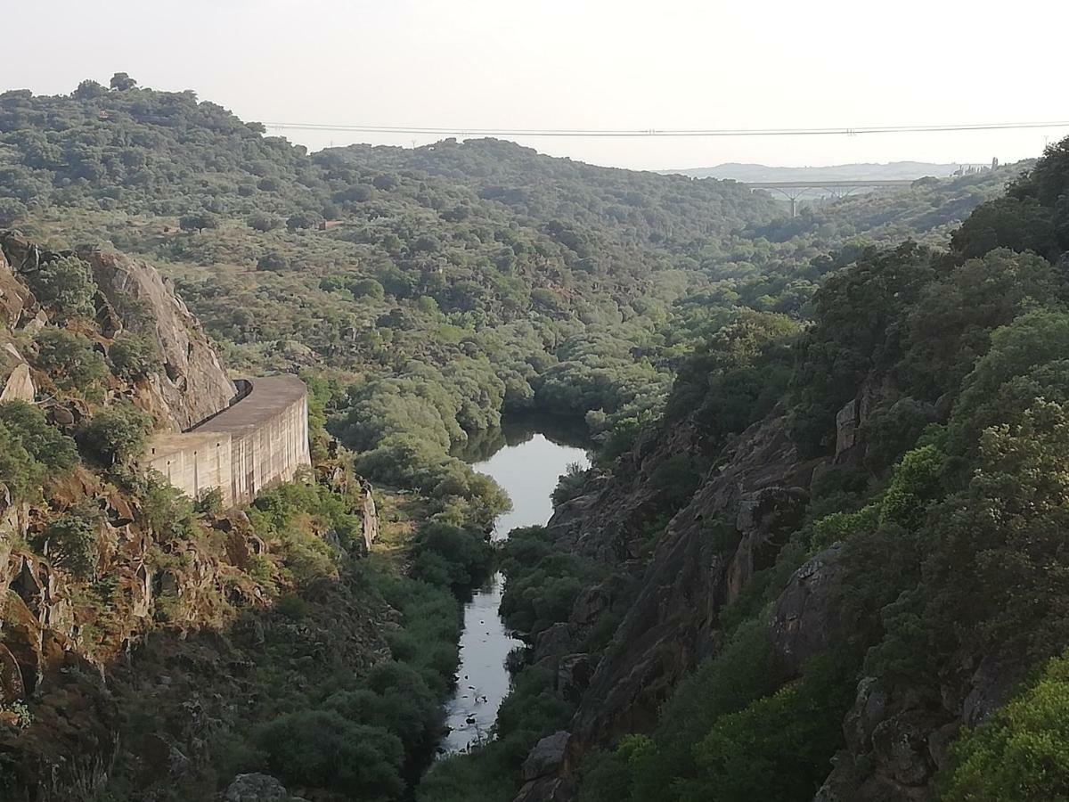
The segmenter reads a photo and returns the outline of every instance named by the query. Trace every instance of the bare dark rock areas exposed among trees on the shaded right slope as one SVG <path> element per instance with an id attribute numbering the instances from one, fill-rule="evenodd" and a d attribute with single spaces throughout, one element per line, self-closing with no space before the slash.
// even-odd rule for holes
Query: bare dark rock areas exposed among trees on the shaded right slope
<path id="1" fill-rule="evenodd" d="M 611 564 L 629 579 L 580 593 L 568 623 L 552 627 L 536 643 L 534 659 L 563 670 L 575 662 L 599 612 L 622 615 L 606 648 L 578 656 L 593 669 L 569 684 L 578 690 L 577 710 L 568 730 L 532 751 L 517 802 L 575 799 L 587 755 L 657 726 L 680 681 L 723 648 L 722 613 L 748 592 L 757 573 L 776 565 L 803 525 L 815 480 L 864 463 L 873 411 L 898 399 L 886 376 L 870 375 L 836 416 L 834 453 L 815 459 L 800 454 L 778 411 L 750 426 L 715 454 L 699 489 L 645 560 L 638 547 L 644 522 L 663 510 L 651 476 L 675 454 L 702 454 L 706 448 L 692 420 L 649 431 L 611 476 L 594 478 L 586 494 L 558 508 L 548 527 L 557 544 Z M 926 420 L 945 420 L 947 405 L 923 412 Z M 879 550 L 864 539 L 836 542 L 771 588 L 763 626 L 773 683 L 793 682 L 807 661 L 856 634 L 857 610 L 843 598 L 859 570 L 890 568 L 879 560 Z M 828 764 L 816 802 L 933 799 L 933 780 L 947 766 L 954 737 L 1005 704 L 1023 678 L 1019 660 L 962 650 L 951 662 L 935 697 L 886 677 L 861 676 L 842 723 L 843 747 Z"/>

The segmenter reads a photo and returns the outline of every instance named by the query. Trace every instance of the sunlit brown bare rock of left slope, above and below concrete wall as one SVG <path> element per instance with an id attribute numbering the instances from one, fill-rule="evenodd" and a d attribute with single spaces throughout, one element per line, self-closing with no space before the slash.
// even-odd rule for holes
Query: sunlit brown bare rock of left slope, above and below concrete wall
<path id="1" fill-rule="evenodd" d="M 27 278 L 72 257 L 91 272 L 91 318 L 42 303 Z M 151 415 L 159 430 L 181 430 L 235 394 L 197 320 L 141 261 L 93 248 L 53 253 L 0 233 L 0 315 L 9 371 L 2 400 L 44 411 L 55 436 L 74 434 L 81 444 L 94 416 L 123 405 Z M 130 328 L 157 355 L 136 377 L 113 367 L 115 343 Z M 79 358 L 99 354 L 100 365 L 112 365 L 98 392 L 61 382 L 43 358 L 42 333 L 51 330 L 86 338 L 89 355 Z M 165 799 L 169 786 L 196 789 L 213 757 L 213 732 L 261 703 L 255 665 L 272 644 L 329 648 L 323 670 L 359 670 L 389 653 L 385 606 L 340 585 L 320 586 L 299 624 L 273 612 L 273 600 L 294 584 L 292 568 L 242 511 L 193 516 L 155 480 L 88 456 L 28 490 L 12 483 L 12 471 L 5 462 L 10 487 L 0 488 L 5 800 L 88 799 L 115 774 L 140 788 L 131 799 Z M 337 461 L 322 465 L 321 481 L 351 499 L 363 538 L 373 538 L 370 487 Z M 77 566 L 57 528 L 72 522 L 84 531 Z M 339 542 L 324 521 L 301 525 L 313 543 Z"/>

